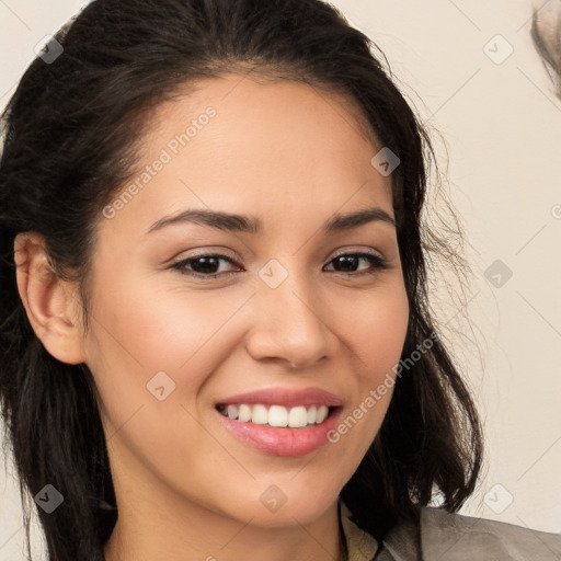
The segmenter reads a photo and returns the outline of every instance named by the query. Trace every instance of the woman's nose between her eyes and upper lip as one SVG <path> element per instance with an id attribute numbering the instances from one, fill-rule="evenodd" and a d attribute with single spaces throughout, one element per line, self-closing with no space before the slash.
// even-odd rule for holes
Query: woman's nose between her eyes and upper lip
<path id="1" fill-rule="evenodd" d="M 336 337 L 325 318 L 329 310 L 304 276 L 290 272 L 276 288 L 257 283 L 247 339 L 247 350 L 255 360 L 309 368 L 335 351 Z"/>

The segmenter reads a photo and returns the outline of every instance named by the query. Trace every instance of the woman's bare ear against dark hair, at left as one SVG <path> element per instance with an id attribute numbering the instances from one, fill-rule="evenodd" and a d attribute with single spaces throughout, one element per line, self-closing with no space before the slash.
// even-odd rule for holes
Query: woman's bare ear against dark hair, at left
<path id="1" fill-rule="evenodd" d="M 56 275 L 44 237 L 37 232 L 19 233 L 14 260 L 20 298 L 37 337 L 58 360 L 85 362 L 76 286 Z"/>

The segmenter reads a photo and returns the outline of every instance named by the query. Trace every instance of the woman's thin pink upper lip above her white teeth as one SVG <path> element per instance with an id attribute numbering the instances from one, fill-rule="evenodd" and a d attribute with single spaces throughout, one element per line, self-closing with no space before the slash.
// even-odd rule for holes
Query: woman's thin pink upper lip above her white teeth
<path id="1" fill-rule="evenodd" d="M 299 390 L 291 388 L 268 388 L 229 396 L 228 398 L 218 400 L 215 404 L 218 405 L 219 403 L 247 403 L 248 405 L 261 403 L 263 405 L 284 405 L 287 408 L 317 404 L 339 407 L 343 404 L 337 396 L 330 391 L 322 390 L 321 388 L 304 388 Z"/>

